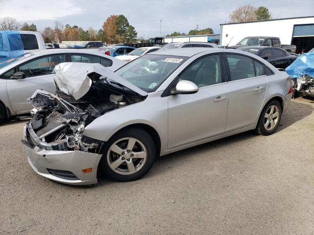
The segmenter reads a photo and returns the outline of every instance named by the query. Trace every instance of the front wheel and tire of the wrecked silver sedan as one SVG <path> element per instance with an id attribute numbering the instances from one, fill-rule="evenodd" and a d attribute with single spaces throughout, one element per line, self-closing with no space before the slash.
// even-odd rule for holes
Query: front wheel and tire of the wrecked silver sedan
<path id="1" fill-rule="evenodd" d="M 113 181 L 128 182 L 140 179 L 152 168 L 156 147 L 146 131 L 130 128 L 112 136 L 102 153 L 101 172 Z"/>

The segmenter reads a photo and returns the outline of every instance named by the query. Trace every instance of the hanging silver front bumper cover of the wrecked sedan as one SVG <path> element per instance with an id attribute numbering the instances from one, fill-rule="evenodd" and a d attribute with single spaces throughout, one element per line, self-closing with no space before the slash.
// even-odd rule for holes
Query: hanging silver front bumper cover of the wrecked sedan
<path id="1" fill-rule="evenodd" d="M 102 154 L 83 151 L 52 150 L 52 145 L 41 141 L 31 127 L 24 126 L 28 163 L 41 176 L 69 185 L 97 184 L 97 168 Z M 91 172 L 82 170 L 92 168 Z"/>

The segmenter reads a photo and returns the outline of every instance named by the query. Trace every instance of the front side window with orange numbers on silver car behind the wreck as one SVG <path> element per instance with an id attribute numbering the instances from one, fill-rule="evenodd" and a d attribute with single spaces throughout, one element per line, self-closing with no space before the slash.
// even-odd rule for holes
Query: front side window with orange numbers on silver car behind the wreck
<path id="1" fill-rule="evenodd" d="M 26 77 L 52 74 L 54 67 L 63 62 L 65 62 L 65 54 L 44 56 L 26 62 L 19 67 L 19 71 L 24 72 Z"/>

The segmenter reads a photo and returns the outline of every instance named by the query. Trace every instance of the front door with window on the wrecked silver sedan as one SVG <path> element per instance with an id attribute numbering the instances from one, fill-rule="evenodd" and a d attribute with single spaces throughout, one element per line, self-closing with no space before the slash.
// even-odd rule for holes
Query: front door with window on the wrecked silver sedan
<path id="1" fill-rule="evenodd" d="M 168 149 L 225 132 L 228 94 L 219 54 L 202 57 L 177 78 L 194 82 L 195 94 L 168 96 Z"/>

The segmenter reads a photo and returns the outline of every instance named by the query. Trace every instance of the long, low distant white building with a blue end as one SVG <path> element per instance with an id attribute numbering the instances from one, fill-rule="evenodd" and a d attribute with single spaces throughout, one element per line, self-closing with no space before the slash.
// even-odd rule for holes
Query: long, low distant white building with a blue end
<path id="1" fill-rule="evenodd" d="M 203 34 L 203 35 L 184 35 L 175 37 L 165 37 L 165 43 L 179 42 L 203 42 L 219 44 L 219 34 Z"/>

